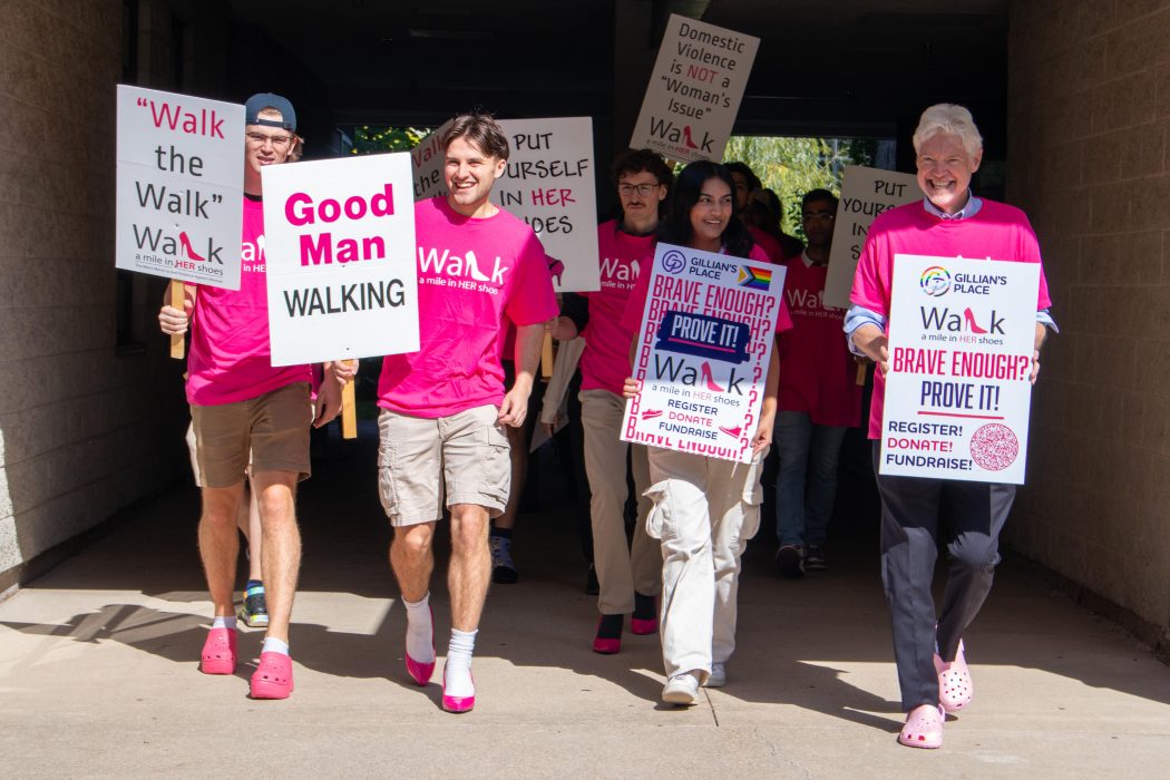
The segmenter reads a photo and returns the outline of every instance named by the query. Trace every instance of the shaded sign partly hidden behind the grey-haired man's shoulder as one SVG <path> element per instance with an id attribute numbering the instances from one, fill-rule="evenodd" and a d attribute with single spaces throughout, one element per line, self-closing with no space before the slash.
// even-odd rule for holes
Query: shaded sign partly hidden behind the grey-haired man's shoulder
<path id="1" fill-rule="evenodd" d="M 849 291 L 869 225 L 882 212 L 922 200 L 918 180 L 909 173 L 847 165 L 841 172 L 833 246 L 828 251 L 825 305 L 849 308 Z"/>

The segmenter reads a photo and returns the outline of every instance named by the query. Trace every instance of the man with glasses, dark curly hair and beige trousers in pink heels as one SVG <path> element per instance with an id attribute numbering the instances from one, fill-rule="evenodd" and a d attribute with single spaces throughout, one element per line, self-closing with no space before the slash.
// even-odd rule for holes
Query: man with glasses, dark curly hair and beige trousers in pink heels
<path id="1" fill-rule="evenodd" d="M 585 471 L 590 484 L 593 527 L 593 565 L 598 578 L 598 612 L 593 651 L 621 650 L 626 615 L 634 634 L 658 631 L 655 596 L 662 588 L 662 557 L 646 534 L 651 501 L 646 447 L 621 441 L 626 401 L 621 387 L 629 375 L 629 341 L 634 332 L 621 318 L 626 302 L 644 269 L 654 263 L 654 232 L 674 174 L 660 154 L 648 149 L 627 150 L 611 167 L 621 203 L 621 216 L 597 230 L 601 289 L 581 292 L 584 305 L 571 306 L 557 322 L 555 336 L 585 338 L 580 358 L 581 426 L 585 436 Z M 567 297 L 567 296 L 566 296 Z M 626 455 L 629 454 L 638 495 L 633 541 L 626 539 Z"/>

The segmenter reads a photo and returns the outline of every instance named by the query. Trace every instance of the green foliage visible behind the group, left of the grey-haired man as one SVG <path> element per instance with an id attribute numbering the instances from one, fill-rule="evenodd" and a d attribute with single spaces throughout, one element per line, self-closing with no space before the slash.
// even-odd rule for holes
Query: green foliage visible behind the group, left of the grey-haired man
<path id="1" fill-rule="evenodd" d="M 840 195 L 841 168 L 872 165 L 873 158 L 874 141 L 854 138 L 732 136 L 723 152 L 725 163 L 746 163 L 764 187 L 779 195 L 780 229 L 800 239 L 800 198 L 818 187 Z"/>

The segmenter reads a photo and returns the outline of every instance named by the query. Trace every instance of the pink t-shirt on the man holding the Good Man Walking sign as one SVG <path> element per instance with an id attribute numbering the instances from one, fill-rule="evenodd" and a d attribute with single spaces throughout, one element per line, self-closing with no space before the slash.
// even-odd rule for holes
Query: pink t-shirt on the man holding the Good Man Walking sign
<path id="1" fill-rule="evenodd" d="M 445 417 L 504 398 L 503 318 L 535 325 L 557 316 L 539 239 L 500 209 L 470 219 L 443 196 L 414 205 L 419 253 L 419 351 L 388 354 L 378 406 Z"/>

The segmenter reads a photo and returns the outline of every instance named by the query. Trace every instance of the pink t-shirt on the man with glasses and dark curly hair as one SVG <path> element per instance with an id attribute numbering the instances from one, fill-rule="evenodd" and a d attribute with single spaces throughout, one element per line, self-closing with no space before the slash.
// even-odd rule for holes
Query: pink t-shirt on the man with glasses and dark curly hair
<path id="1" fill-rule="evenodd" d="M 641 270 L 654 264 L 656 243 L 653 234 L 635 236 L 622 233 L 615 220 L 598 226 L 601 289 L 581 292 L 589 298 L 589 324 L 581 334 L 585 338 L 580 363 L 583 391 L 604 389 L 621 394 L 621 385 L 629 375 L 629 341 L 634 337 L 633 330 L 622 326 L 621 317 Z"/>

